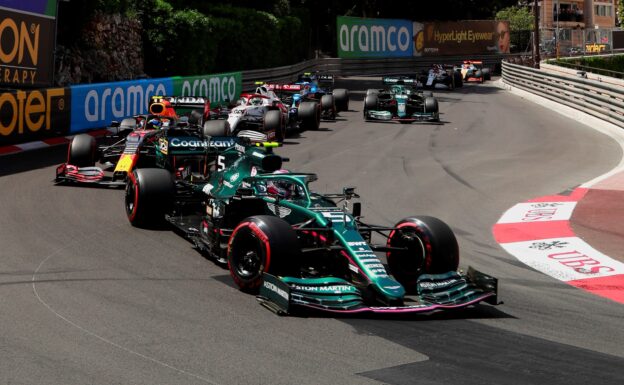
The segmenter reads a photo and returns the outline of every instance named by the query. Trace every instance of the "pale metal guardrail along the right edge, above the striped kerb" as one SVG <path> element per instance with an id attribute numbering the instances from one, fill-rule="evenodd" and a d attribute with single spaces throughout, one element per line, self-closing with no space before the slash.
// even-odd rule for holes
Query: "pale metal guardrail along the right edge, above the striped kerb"
<path id="1" fill-rule="evenodd" d="M 624 128 L 624 91 L 598 80 L 503 61 L 503 82 Z"/>

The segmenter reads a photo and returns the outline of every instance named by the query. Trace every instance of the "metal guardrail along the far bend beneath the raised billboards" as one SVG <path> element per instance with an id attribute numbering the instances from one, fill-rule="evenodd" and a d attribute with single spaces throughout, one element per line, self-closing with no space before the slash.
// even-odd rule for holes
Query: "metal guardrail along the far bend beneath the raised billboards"
<path id="1" fill-rule="evenodd" d="M 341 76 L 384 76 L 413 74 L 432 64 L 459 65 L 463 60 L 481 60 L 495 71 L 503 58 L 514 55 L 437 56 L 392 59 L 318 58 L 305 62 L 260 70 L 243 71 L 243 90 L 253 89 L 255 81 L 291 82 L 306 71 L 321 71 Z"/>

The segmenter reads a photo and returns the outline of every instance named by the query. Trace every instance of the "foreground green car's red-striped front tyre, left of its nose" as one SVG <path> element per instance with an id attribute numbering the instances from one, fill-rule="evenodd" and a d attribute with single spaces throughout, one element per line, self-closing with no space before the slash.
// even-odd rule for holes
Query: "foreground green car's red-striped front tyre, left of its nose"
<path id="1" fill-rule="evenodd" d="M 257 215 L 243 219 L 228 243 L 228 268 L 238 287 L 256 293 L 262 273 L 293 275 L 300 252 L 297 233 L 283 219 Z"/>

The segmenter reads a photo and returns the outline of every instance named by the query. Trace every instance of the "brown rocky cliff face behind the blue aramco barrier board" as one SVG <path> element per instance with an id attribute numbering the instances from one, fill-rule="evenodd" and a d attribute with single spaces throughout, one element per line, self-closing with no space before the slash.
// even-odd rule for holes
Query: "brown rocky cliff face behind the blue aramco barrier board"
<path id="1" fill-rule="evenodd" d="M 129 80 L 142 76 L 141 23 L 136 19 L 96 13 L 74 45 L 57 46 L 57 85 Z"/>

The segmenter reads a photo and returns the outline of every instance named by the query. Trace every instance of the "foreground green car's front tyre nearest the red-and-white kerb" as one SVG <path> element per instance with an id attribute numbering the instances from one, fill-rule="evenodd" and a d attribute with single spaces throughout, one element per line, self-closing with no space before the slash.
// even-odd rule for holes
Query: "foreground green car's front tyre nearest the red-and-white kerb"
<path id="1" fill-rule="evenodd" d="M 407 291 L 416 288 L 422 274 L 441 274 L 457 270 L 459 246 L 453 230 L 441 220 L 415 216 L 399 221 L 387 246 L 406 248 L 386 253 L 388 268 Z"/>

